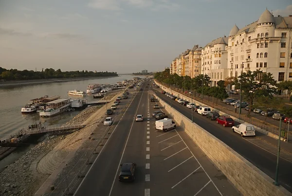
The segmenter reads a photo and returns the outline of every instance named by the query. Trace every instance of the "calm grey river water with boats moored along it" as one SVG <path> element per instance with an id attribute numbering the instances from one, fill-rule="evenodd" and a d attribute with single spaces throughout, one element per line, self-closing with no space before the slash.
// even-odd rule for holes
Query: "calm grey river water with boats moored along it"
<path id="1" fill-rule="evenodd" d="M 80 111 L 68 111 L 60 115 L 42 118 L 38 113 L 21 114 L 21 107 L 30 103 L 29 100 L 38 98 L 44 95 L 60 95 L 61 98 L 77 97 L 68 95 L 69 90 L 82 90 L 86 91 L 89 84 L 115 84 L 123 80 L 130 80 L 133 75 L 120 75 L 118 77 L 60 82 L 60 83 L 47 83 L 47 84 L 34 84 L 34 85 L 19 85 L 13 87 L 0 88 L 0 139 L 8 137 L 10 134 L 18 131 L 28 125 L 41 122 L 44 125 L 58 125 L 65 124 L 71 120 Z M 140 76 L 142 77 L 142 76 Z M 88 101 L 93 101 L 93 96 L 85 97 Z"/>

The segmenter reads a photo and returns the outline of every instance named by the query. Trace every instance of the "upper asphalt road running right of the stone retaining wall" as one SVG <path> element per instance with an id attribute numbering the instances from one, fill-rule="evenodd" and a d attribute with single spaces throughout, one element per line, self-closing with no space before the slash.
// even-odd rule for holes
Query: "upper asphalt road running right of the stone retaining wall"
<path id="1" fill-rule="evenodd" d="M 156 95 L 167 104 L 172 105 L 176 110 L 189 119 L 192 119 L 191 109 L 182 106 L 161 93 L 161 89 L 153 88 Z M 232 132 L 231 127 L 223 127 L 215 121 L 193 112 L 193 122 L 201 126 L 219 140 L 230 146 L 245 159 L 253 163 L 271 178 L 275 178 L 277 147 L 272 143 L 261 140 L 260 137 L 241 138 L 239 134 Z M 236 125 L 239 123 L 236 122 Z M 260 133 L 256 133 L 260 135 Z M 264 136 L 263 136 L 264 137 Z M 292 192 L 292 154 L 281 151 L 279 160 L 279 183 Z"/>

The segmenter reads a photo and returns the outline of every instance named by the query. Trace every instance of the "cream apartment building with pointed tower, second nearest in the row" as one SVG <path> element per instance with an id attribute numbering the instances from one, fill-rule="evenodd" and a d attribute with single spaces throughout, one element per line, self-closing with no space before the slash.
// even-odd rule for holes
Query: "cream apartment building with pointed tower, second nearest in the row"
<path id="1" fill-rule="evenodd" d="M 228 37 L 224 36 L 211 41 L 201 50 L 201 74 L 211 78 L 211 87 L 228 77 L 227 46 Z"/>

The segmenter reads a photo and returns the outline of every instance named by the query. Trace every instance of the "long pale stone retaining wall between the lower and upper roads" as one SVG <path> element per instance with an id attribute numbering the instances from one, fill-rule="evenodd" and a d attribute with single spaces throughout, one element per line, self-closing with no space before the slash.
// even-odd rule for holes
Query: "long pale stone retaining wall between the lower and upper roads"
<path id="1" fill-rule="evenodd" d="M 155 95 L 156 96 L 156 95 Z M 282 186 L 274 186 L 274 180 L 245 160 L 236 151 L 212 134 L 192 123 L 163 100 L 160 104 L 170 113 L 170 117 L 181 126 L 188 136 L 201 148 L 223 174 L 244 196 L 292 196 Z"/>

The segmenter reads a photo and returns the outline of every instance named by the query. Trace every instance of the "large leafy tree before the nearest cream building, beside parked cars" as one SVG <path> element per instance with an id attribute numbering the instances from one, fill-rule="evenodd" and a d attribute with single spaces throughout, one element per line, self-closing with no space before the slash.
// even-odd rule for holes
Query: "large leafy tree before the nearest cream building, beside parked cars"
<path id="1" fill-rule="evenodd" d="M 243 72 L 238 78 L 240 78 L 240 81 L 235 79 L 236 89 L 240 88 L 241 82 L 242 94 L 250 102 L 250 106 L 253 105 L 255 98 L 261 96 L 272 98 L 276 93 L 276 81 L 271 73 L 263 73 L 261 70 L 247 71 Z M 250 113 L 251 107 L 248 115 Z"/>

